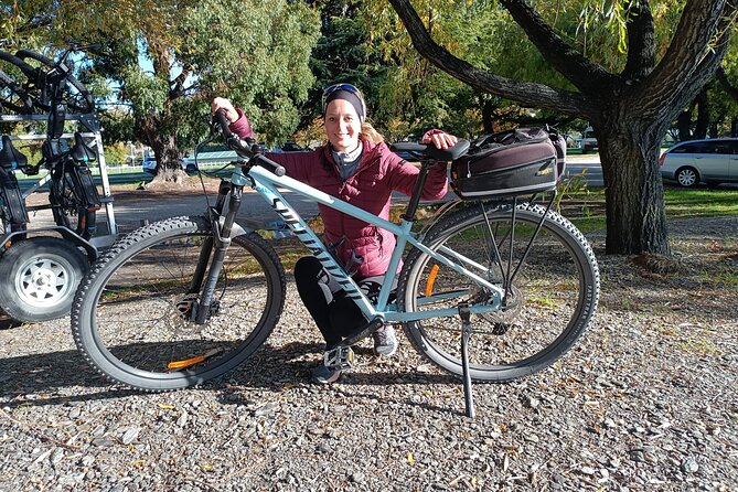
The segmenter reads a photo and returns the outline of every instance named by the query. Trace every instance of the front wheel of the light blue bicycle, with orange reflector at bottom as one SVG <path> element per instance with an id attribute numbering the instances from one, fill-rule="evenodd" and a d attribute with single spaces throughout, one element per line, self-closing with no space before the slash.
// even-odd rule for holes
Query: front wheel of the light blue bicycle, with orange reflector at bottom
<path id="1" fill-rule="evenodd" d="M 169 218 L 124 237 L 92 267 L 72 331 L 94 367 L 133 388 L 178 389 L 224 374 L 265 342 L 285 303 L 285 271 L 256 233 L 233 238 L 208 319 L 192 321 L 191 284 L 211 240 L 203 217 Z"/>

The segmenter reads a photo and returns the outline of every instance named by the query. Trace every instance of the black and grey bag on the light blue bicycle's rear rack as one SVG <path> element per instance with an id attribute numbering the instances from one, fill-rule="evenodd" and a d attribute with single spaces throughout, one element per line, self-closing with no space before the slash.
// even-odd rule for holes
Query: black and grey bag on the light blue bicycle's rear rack
<path id="1" fill-rule="evenodd" d="M 463 200 L 553 190 L 564 174 L 566 140 L 543 128 L 479 137 L 451 163 L 451 188 Z"/>

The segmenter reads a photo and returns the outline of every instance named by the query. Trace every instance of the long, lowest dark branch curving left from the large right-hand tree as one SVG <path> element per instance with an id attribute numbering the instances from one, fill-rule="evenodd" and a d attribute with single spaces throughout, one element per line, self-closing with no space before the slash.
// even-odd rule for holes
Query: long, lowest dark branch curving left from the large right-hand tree
<path id="1" fill-rule="evenodd" d="M 389 0 L 407 32 L 415 49 L 434 65 L 449 75 L 466 82 L 470 86 L 523 105 L 556 109 L 569 115 L 587 116 L 592 108 L 588 99 L 577 93 L 556 89 L 544 84 L 521 82 L 494 75 L 474 67 L 468 62 L 453 56 L 438 45 L 408 0 Z"/>

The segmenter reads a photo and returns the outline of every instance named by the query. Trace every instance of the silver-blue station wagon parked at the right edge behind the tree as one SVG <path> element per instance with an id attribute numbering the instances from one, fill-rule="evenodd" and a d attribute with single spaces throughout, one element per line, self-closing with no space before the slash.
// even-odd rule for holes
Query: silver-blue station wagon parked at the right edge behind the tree
<path id="1" fill-rule="evenodd" d="M 684 188 L 738 182 L 738 139 L 680 142 L 662 153 L 659 163 L 662 178 Z"/>

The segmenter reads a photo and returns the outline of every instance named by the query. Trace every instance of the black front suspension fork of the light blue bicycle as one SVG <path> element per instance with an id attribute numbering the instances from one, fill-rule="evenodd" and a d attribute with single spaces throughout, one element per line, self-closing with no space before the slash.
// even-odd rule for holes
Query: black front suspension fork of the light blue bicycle
<path id="1" fill-rule="evenodd" d="M 197 324 L 203 324 L 210 315 L 211 307 L 213 304 L 213 296 L 215 293 L 215 285 L 217 284 L 217 278 L 220 277 L 221 270 L 223 269 L 225 253 L 231 246 L 231 231 L 233 229 L 233 224 L 236 221 L 238 208 L 240 208 L 243 191 L 243 185 L 222 182 L 215 207 L 211 210 L 211 225 L 213 227 L 213 234 L 207 239 L 205 239 L 205 243 L 203 244 L 203 248 L 200 252 L 200 259 L 197 261 L 195 276 L 193 277 L 191 284 L 191 288 L 194 288 L 195 285 L 202 285 L 205 269 L 207 268 L 207 258 L 210 258 L 212 252 L 213 258 L 210 261 L 210 271 L 207 272 L 207 278 L 205 279 L 205 287 L 203 288 L 202 296 L 200 298 L 200 307 L 195 317 L 195 322 Z M 223 215 L 226 196 L 228 197 L 228 212 Z M 221 217 L 224 218 L 223 223 L 221 223 Z M 199 281 L 197 278 L 200 278 Z"/>

